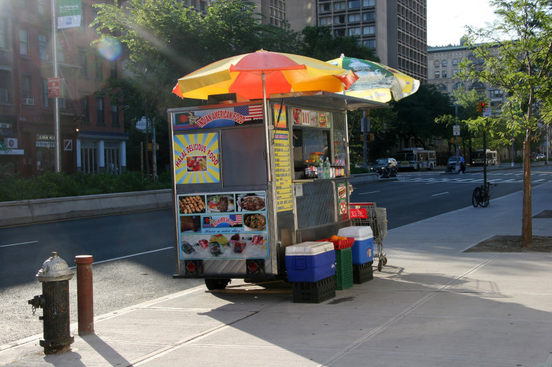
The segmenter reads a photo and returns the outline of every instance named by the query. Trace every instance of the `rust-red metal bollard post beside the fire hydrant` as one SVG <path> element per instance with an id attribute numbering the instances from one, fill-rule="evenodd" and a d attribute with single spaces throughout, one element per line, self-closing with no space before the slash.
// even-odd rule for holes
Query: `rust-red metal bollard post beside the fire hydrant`
<path id="1" fill-rule="evenodd" d="M 92 294 L 92 255 L 75 256 L 77 264 L 77 312 L 79 335 L 94 333 L 94 297 Z"/>

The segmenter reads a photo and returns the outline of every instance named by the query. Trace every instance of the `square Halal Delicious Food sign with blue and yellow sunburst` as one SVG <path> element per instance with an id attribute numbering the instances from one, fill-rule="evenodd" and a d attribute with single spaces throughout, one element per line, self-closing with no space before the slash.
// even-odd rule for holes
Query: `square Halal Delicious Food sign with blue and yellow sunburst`
<path id="1" fill-rule="evenodd" d="M 172 148 L 177 184 L 220 182 L 218 133 L 175 135 Z"/>

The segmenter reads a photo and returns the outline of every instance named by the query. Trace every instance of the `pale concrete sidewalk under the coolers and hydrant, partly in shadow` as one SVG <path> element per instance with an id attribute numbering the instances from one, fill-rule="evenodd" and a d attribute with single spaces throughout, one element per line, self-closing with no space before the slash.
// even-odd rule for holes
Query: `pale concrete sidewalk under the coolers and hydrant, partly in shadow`
<path id="1" fill-rule="evenodd" d="M 0 365 L 552 366 L 552 253 L 462 252 L 520 235 L 521 207 L 518 192 L 391 230 L 383 271 L 322 304 L 199 286 L 97 317 L 95 335 L 72 325 L 70 353 L 19 341 Z M 533 187 L 544 210 L 552 184 Z M 552 219 L 533 233 L 552 236 Z"/>

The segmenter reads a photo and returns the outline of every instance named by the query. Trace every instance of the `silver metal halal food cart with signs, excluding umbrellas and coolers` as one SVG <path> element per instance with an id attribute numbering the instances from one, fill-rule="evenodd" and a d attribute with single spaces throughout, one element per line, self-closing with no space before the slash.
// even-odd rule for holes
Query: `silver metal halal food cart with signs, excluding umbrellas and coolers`
<path id="1" fill-rule="evenodd" d="M 233 98 L 168 110 L 175 277 L 208 289 L 286 280 L 286 247 L 351 225 L 346 111 L 386 106 L 330 92 Z"/>

